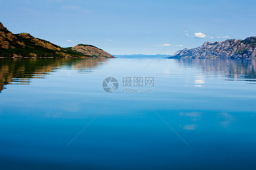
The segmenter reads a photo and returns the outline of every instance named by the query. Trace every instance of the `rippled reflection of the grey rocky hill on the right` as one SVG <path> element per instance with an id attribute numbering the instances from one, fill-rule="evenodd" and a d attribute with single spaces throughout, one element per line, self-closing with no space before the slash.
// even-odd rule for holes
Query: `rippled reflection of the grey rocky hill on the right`
<path id="1" fill-rule="evenodd" d="M 202 86 L 205 77 L 224 77 L 224 80 L 256 81 L 256 60 L 177 59 L 184 68 L 196 68 L 195 86 Z"/>

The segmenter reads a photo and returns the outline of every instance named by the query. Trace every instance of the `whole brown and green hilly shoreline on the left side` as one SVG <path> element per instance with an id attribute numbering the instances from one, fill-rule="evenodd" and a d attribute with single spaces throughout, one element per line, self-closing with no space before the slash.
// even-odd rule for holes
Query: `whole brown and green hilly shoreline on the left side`
<path id="1" fill-rule="evenodd" d="M 28 33 L 13 34 L 0 22 L 0 57 L 116 58 L 93 45 L 62 48 Z"/>

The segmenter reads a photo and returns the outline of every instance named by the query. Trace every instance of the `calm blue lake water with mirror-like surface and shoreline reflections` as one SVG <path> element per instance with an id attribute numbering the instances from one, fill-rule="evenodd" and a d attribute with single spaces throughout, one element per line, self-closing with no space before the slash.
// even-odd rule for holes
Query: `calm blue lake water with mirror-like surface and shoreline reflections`
<path id="1" fill-rule="evenodd" d="M 255 170 L 255 75 L 255 60 L 0 59 L 0 169 Z M 154 92 L 123 93 L 137 76 Z"/>

